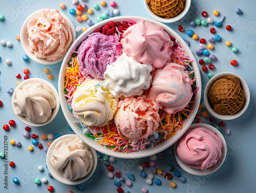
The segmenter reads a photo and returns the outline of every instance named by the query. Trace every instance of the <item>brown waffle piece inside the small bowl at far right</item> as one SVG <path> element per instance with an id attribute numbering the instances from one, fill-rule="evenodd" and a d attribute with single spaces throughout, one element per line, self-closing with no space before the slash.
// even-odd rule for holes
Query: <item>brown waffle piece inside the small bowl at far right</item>
<path id="1" fill-rule="evenodd" d="M 243 106 L 245 95 L 240 87 L 240 79 L 226 76 L 216 80 L 208 92 L 209 102 L 220 115 L 237 113 Z"/>

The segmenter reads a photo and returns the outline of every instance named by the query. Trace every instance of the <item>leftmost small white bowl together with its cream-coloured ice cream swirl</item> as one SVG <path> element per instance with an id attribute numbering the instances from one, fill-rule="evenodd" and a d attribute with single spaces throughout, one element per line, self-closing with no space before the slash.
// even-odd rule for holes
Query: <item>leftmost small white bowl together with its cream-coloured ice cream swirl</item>
<path id="1" fill-rule="evenodd" d="M 29 126 L 43 126 L 51 122 L 59 111 L 59 96 L 47 80 L 24 80 L 12 94 L 12 110 L 16 117 Z"/>

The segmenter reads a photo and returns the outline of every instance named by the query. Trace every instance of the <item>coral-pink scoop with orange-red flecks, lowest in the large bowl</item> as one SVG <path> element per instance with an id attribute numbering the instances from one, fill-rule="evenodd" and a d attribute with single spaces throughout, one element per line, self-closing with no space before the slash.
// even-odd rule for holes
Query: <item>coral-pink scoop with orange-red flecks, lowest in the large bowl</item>
<path id="1" fill-rule="evenodd" d="M 118 132 L 135 140 L 149 137 L 159 126 L 158 109 L 157 103 L 145 95 L 119 101 L 114 117 Z"/>

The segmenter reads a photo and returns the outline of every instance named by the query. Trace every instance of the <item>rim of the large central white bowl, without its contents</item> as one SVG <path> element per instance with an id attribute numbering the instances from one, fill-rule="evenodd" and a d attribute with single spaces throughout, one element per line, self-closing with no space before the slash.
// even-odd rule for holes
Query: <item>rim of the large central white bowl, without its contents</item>
<path id="1" fill-rule="evenodd" d="M 64 93 L 62 91 L 63 91 L 63 89 L 64 89 L 63 87 L 65 85 L 64 84 L 64 75 L 65 75 L 65 72 L 66 72 L 67 63 L 70 61 L 71 56 L 73 54 L 73 51 L 76 50 L 77 46 L 79 46 L 82 41 L 86 40 L 89 34 L 93 33 L 97 28 L 103 27 L 104 25 L 108 24 L 110 21 L 123 22 L 123 21 L 126 21 L 128 19 L 133 20 L 135 22 L 139 21 L 141 19 L 144 19 L 144 20 L 147 20 L 147 21 L 152 22 L 154 24 L 161 25 L 161 26 L 164 27 L 164 30 L 169 35 L 174 36 L 179 41 L 180 45 L 184 48 L 184 50 L 186 51 L 188 56 L 191 59 L 194 59 L 194 61 L 191 62 L 191 64 L 192 64 L 192 66 L 195 70 L 195 77 L 197 79 L 196 83 L 197 83 L 197 87 L 199 87 L 199 90 L 197 91 L 197 93 L 194 96 L 194 104 L 192 105 L 192 110 L 193 110 L 194 113 L 189 113 L 188 116 L 190 117 L 190 119 L 186 119 L 184 121 L 182 130 L 179 130 L 178 132 L 176 132 L 176 135 L 174 135 L 173 137 L 171 137 L 167 140 L 161 141 L 160 144 L 157 144 L 156 146 L 154 146 L 152 148 L 147 148 L 147 149 L 145 149 L 141 152 L 131 152 L 129 154 L 126 154 L 124 152 L 112 151 L 111 148 L 104 147 L 104 146 L 98 144 L 96 141 L 92 140 L 91 138 L 85 136 L 82 133 L 82 129 L 80 128 L 80 126 L 78 126 L 76 123 L 73 122 L 74 117 L 72 117 L 71 112 L 68 109 L 67 102 L 66 102 L 67 98 L 64 96 Z M 117 157 L 117 158 L 133 159 L 133 158 L 142 158 L 142 157 L 151 156 L 151 155 L 154 155 L 154 154 L 157 154 L 157 153 L 163 151 L 164 149 L 166 149 L 170 145 L 174 144 L 184 134 L 184 132 L 186 132 L 187 128 L 190 126 L 194 117 L 196 116 L 198 106 L 199 106 L 199 103 L 200 103 L 201 77 L 200 77 L 200 72 L 199 72 L 199 69 L 198 69 L 198 64 L 197 64 L 197 61 L 196 61 L 193 53 L 190 51 L 186 42 L 174 30 L 170 29 L 166 25 L 164 25 L 160 22 L 157 22 L 153 19 L 148 19 L 148 18 L 139 17 L 139 16 L 120 16 L 120 17 L 114 17 L 114 18 L 106 19 L 103 22 L 100 22 L 100 23 L 94 25 L 93 27 L 89 28 L 87 31 L 83 32 L 76 39 L 76 41 L 70 47 L 68 53 L 66 54 L 66 57 L 62 61 L 62 65 L 61 65 L 60 72 L 59 72 L 58 90 L 59 90 L 60 105 L 61 105 L 61 109 L 63 111 L 63 114 L 66 117 L 69 125 L 72 127 L 73 131 L 76 133 L 76 135 L 78 135 L 79 138 L 81 138 L 88 145 L 90 145 L 91 147 L 95 148 L 98 152 L 101 152 L 103 154 L 110 155 L 110 156 Z"/>

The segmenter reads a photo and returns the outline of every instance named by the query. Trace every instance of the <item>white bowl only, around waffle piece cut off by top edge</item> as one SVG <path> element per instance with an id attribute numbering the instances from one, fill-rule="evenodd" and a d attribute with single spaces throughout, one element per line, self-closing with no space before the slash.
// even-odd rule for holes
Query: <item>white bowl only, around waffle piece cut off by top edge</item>
<path id="1" fill-rule="evenodd" d="M 144 0 L 144 6 L 146 8 L 146 11 L 156 20 L 158 20 L 159 22 L 163 22 L 163 23 L 174 23 L 177 22 L 178 20 L 180 20 L 182 17 L 184 17 L 186 15 L 186 13 L 188 12 L 189 8 L 191 5 L 191 0 L 186 0 L 185 4 L 184 4 L 184 8 L 183 10 L 176 16 L 172 17 L 172 18 L 163 18 L 160 17 L 158 15 L 156 15 L 151 9 L 150 6 L 148 6 L 148 4 L 146 3 L 146 0 Z"/>

